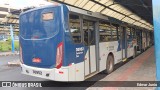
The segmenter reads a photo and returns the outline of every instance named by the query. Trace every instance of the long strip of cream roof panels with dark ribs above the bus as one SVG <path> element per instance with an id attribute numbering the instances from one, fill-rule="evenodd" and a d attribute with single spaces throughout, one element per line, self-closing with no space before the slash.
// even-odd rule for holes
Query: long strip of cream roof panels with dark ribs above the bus
<path id="1" fill-rule="evenodd" d="M 124 22 L 133 23 L 134 25 L 141 26 L 145 24 L 148 27 L 153 27 L 145 20 L 128 10 L 126 7 L 114 3 L 114 0 L 58 0 L 60 2 L 74 5 L 75 7 L 83 8 L 92 12 L 101 12 L 102 14 L 114 17 L 118 20 L 123 19 Z M 144 25 L 143 25 L 144 26 Z"/>

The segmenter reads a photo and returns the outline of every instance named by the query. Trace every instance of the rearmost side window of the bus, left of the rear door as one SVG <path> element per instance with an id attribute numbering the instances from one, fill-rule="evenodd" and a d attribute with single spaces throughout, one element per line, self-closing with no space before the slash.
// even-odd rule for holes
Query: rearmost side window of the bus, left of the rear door
<path id="1" fill-rule="evenodd" d="M 72 39 L 75 43 L 81 43 L 80 17 L 78 15 L 69 15 L 69 27 Z"/>

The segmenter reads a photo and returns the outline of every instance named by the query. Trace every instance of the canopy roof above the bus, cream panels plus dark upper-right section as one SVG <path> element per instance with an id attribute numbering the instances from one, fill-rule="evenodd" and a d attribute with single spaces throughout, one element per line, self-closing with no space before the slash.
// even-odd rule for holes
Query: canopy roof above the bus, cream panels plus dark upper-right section
<path id="1" fill-rule="evenodd" d="M 148 14 L 148 0 L 53 0 L 116 18 L 148 30 L 153 30 L 152 14 Z M 147 2 L 147 4 L 146 4 Z M 151 5 L 151 4 L 149 4 Z M 150 7 L 152 8 L 152 7 Z M 152 11 L 150 11 L 152 13 Z"/>

